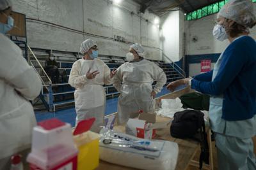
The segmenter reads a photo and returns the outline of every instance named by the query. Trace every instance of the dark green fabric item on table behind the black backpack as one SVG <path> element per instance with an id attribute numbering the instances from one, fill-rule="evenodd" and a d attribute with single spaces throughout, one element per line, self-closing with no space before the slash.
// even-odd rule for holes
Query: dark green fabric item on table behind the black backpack
<path id="1" fill-rule="evenodd" d="M 210 96 L 193 92 L 180 96 L 183 108 L 191 108 L 194 110 L 207 110 L 209 111 Z"/>

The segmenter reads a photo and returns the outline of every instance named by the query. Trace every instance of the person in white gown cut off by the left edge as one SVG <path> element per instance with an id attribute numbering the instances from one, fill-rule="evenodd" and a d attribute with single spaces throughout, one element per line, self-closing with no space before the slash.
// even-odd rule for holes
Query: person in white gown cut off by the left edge
<path id="1" fill-rule="evenodd" d="M 40 93 L 41 81 L 22 56 L 19 46 L 4 34 L 14 26 L 12 3 L 0 0 L 0 169 L 10 169 L 10 158 L 26 159 L 36 125 L 29 100 Z"/>

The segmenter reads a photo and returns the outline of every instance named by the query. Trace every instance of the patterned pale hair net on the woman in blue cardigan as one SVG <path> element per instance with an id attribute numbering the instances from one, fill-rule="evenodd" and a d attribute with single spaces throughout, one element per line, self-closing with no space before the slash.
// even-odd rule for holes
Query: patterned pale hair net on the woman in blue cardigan
<path id="1" fill-rule="evenodd" d="M 253 3 L 250 0 L 230 0 L 221 8 L 218 15 L 233 20 L 246 28 L 252 28 L 256 24 Z"/>

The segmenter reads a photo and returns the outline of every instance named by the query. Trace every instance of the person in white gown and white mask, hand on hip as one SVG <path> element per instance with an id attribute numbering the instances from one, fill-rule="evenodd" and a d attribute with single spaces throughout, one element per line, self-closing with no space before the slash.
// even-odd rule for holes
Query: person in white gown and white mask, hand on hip
<path id="1" fill-rule="evenodd" d="M 166 74 L 154 62 L 145 59 L 145 50 L 136 43 L 130 46 L 125 62 L 116 71 L 113 86 L 118 97 L 118 124 L 124 125 L 134 113 L 154 111 L 154 97 L 166 84 Z M 152 83 L 157 81 L 154 89 Z M 135 114 L 136 115 L 136 114 Z"/>

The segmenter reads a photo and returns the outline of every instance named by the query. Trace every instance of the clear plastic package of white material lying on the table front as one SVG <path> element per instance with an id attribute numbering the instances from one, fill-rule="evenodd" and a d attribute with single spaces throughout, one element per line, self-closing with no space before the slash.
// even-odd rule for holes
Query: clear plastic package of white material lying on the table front
<path id="1" fill-rule="evenodd" d="M 179 147 L 170 141 L 140 139 L 108 129 L 100 131 L 100 159 L 147 170 L 174 170 Z"/>

